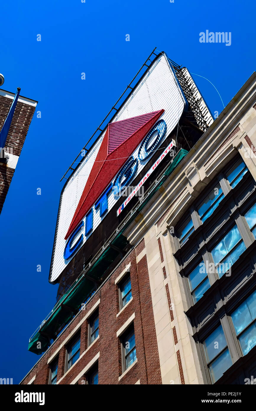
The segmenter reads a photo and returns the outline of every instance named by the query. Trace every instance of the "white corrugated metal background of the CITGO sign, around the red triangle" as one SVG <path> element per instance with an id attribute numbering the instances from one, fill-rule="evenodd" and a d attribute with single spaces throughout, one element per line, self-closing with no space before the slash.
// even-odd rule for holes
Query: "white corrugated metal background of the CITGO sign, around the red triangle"
<path id="1" fill-rule="evenodd" d="M 176 84 L 175 76 L 165 56 L 161 55 L 134 89 L 125 105 L 117 112 L 114 122 L 164 109 L 164 114 L 161 115 L 159 120 L 163 119 L 166 122 L 166 134 L 168 134 L 177 125 L 178 120 L 182 115 L 184 104 L 185 102 L 182 93 Z M 90 150 L 85 160 L 81 163 L 81 166 L 79 166 L 72 175 L 62 193 L 53 254 L 51 281 L 55 281 L 67 266 L 67 261 L 63 258 L 63 251 L 66 244 L 65 235 L 81 198 L 93 162 L 99 152 L 102 140 L 103 136 L 97 141 L 95 148 Z M 138 148 L 136 148 L 133 155 L 134 157 L 138 156 Z M 140 173 L 143 167 L 144 164 L 139 162 L 137 173 Z M 113 193 L 110 193 L 108 196 L 109 210 L 115 205 L 115 202 L 116 200 Z M 97 210 L 93 209 L 94 229 L 102 221 L 99 214 L 99 208 Z M 86 241 L 86 237 L 84 238 L 84 241 Z"/>

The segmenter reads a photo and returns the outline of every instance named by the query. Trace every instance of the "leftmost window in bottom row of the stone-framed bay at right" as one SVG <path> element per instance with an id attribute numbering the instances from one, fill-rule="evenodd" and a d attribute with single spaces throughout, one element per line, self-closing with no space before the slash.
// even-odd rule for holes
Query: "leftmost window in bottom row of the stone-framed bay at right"
<path id="1" fill-rule="evenodd" d="M 232 360 L 221 326 L 203 342 L 205 357 L 212 383 L 215 383 L 231 367 Z"/>

